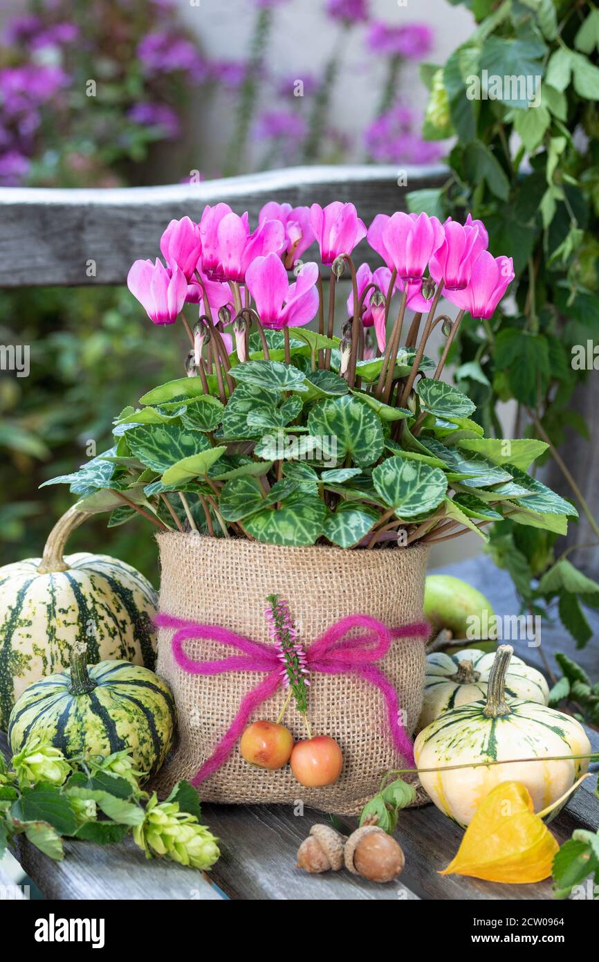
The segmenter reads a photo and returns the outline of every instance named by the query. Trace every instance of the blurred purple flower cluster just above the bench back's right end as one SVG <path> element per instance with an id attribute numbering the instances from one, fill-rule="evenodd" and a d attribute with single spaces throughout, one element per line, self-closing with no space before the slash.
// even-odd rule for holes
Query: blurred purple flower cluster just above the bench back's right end
<path id="1" fill-rule="evenodd" d="M 415 117 L 410 108 L 396 104 L 374 120 L 364 131 L 364 143 L 379 164 L 430 164 L 437 161 L 441 147 L 420 139 L 414 132 Z"/>

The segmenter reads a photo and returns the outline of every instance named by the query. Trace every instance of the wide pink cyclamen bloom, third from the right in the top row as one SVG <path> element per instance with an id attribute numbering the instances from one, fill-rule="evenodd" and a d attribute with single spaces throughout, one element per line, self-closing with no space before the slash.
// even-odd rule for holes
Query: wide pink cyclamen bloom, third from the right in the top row
<path id="1" fill-rule="evenodd" d="M 399 278 L 409 281 L 422 279 L 444 238 L 438 218 L 428 214 L 378 214 L 368 230 L 370 246 L 387 267 L 395 267 Z"/>

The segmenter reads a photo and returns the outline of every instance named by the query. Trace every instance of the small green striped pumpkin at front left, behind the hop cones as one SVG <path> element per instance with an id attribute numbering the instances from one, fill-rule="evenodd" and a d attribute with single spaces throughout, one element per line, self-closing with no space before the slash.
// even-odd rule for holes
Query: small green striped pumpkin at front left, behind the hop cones
<path id="1" fill-rule="evenodd" d="M 85 752 L 131 752 L 140 772 L 164 761 L 175 727 L 170 689 L 153 671 L 124 661 L 87 666 L 87 646 L 71 647 L 70 671 L 34 682 L 16 701 L 9 721 L 12 752 L 39 737 L 66 758 Z"/>

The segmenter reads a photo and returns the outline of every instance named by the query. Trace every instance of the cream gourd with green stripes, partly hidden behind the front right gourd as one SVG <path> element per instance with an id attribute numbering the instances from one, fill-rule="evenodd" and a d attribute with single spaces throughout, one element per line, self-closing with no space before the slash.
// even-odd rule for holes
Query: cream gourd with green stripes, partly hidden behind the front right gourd
<path id="1" fill-rule="evenodd" d="M 424 699 L 417 730 L 426 728 L 443 712 L 486 697 L 494 659 L 494 651 L 481 651 L 480 648 L 465 648 L 453 655 L 443 651 L 427 655 Z M 549 686 L 540 671 L 512 655 L 506 674 L 506 695 L 546 705 Z"/>

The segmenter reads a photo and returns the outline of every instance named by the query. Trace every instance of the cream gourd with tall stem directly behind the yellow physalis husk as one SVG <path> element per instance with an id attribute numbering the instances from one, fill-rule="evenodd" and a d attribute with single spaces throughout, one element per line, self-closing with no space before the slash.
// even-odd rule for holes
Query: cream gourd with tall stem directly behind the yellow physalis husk
<path id="1" fill-rule="evenodd" d="M 414 742 L 422 787 L 437 808 L 462 827 L 472 821 L 477 807 L 500 782 L 525 785 L 539 812 L 561 798 L 588 768 L 588 757 L 552 760 L 556 755 L 589 755 L 590 743 L 579 722 L 536 701 L 506 699 L 512 651 L 510 645 L 497 648 L 486 700 L 445 712 Z M 517 761 L 531 758 L 535 760 Z M 468 763 L 504 761 L 451 770 Z M 426 771 L 440 768 L 448 771 Z"/>

